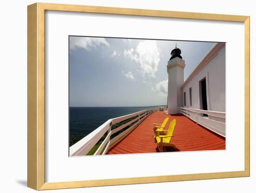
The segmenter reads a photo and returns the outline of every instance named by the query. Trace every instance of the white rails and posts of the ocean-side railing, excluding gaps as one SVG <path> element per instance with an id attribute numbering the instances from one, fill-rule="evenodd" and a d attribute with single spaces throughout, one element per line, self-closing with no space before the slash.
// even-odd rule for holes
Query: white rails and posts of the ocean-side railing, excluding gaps
<path id="1" fill-rule="evenodd" d="M 122 125 L 120 127 L 115 128 L 114 130 L 111 130 L 112 125 L 114 125 L 116 123 L 120 123 L 123 120 L 127 120 L 129 118 L 135 117 L 136 115 L 139 115 L 139 117 L 135 118 L 134 120 L 131 120 L 129 122 L 133 123 L 136 120 L 138 120 L 138 124 L 139 124 L 141 122 L 141 120 L 140 120 L 141 117 L 143 117 L 142 119 L 144 119 L 145 118 L 144 116 L 148 116 L 150 113 L 153 113 L 155 110 L 156 109 L 145 109 L 145 110 L 142 110 L 142 111 L 139 111 L 139 112 L 136 112 L 136 113 L 131 113 L 131 114 L 128 114 L 128 115 L 124 115 L 124 116 L 120 116 L 120 117 L 116 117 L 116 118 L 107 120 L 101 126 L 96 128 L 93 132 L 89 133 L 87 136 L 85 136 L 84 138 L 79 140 L 74 145 L 70 146 L 69 147 L 69 155 L 75 156 L 75 155 L 77 155 L 81 152 L 82 152 L 83 155 L 86 155 L 95 146 L 95 144 L 101 139 L 101 137 L 108 131 L 107 137 L 103 140 L 101 146 L 99 146 L 98 150 L 96 150 L 96 152 L 95 152 L 95 154 L 101 153 L 104 146 L 106 146 L 105 148 L 108 148 L 108 146 L 110 145 L 110 137 L 111 137 L 112 134 L 117 132 L 115 130 L 119 129 L 120 127 L 123 126 Z M 133 127 L 133 126 L 131 126 L 131 127 Z M 129 127 L 127 130 L 129 130 L 131 127 Z M 125 130 L 126 132 L 123 131 L 122 133 L 128 133 L 127 130 Z M 112 133 L 112 131 L 114 131 L 114 132 Z M 120 133 L 119 135 L 121 135 L 122 133 Z M 114 139 L 112 139 L 111 141 L 113 142 Z M 104 150 L 104 153 L 106 153 L 106 149 Z"/>

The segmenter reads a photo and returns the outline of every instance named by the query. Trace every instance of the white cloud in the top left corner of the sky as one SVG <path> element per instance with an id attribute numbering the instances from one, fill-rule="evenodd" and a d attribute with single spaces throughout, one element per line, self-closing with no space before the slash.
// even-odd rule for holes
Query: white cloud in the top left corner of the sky
<path id="1" fill-rule="evenodd" d="M 70 37 L 69 47 L 70 49 L 77 49 L 79 47 L 86 50 L 90 50 L 91 47 L 97 47 L 100 45 L 110 46 L 105 38 L 89 38 L 89 37 Z"/>

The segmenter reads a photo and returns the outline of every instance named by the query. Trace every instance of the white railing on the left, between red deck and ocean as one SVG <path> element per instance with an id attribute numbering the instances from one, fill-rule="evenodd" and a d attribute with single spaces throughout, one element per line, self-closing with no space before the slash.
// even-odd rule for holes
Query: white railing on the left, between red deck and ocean
<path id="1" fill-rule="evenodd" d="M 156 110 L 157 109 L 146 109 L 146 110 L 139 111 L 136 113 L 132 113 L 132 114 L 128 114 L 125 116 L 107 120 L 105 123 L 103 123 L 97 129 L 95 129 L 92 133 L 89 133 L 87 136 L 85 136 L 83 139 L 81 139 L 80 141 L 75 143 L 73 146 L 70 146 L 69 147 L 69 155 L 70 156 L 87 155 L 90 152 L 90 150 L 96 145 L 96 143 L 102 138 L 102 136 L 107 132 L 108 132 L 107 137 L 103 140 L 101 145 L 95 151 L 94 155 L 100 155 L 100 154 L 104 155 L 104 154 L 108 153 L 108 148 L 110 145 L 115 143 L 117 140 L 120 140 L 125 134 L 127 134 L 128 132 L 133 130 L 136 126 L 138 126 L 141 123 L 142 120 L 146 119 L 148 117 L 148 115 L 155 112 Z M 115 128 L 113 130 L 111 129 L 111 127 L 113 125 L 115 125 L 116 123 L 120 123 L 123 120 L 127 120 L 127 119 L 130 119 L 135 116 L 138 116 L 138 117 L 136 117 L 133 120 L 130 120 L 129 122 Z M 137 121 L 137 122 L 135 122 L 135 121 Z M 119 132 L 121 129 L 123 129 L 126 126 L 129 126 L 131 124 L 133 124 L 133 125 L 128 127 L 122 133 L 119 133 L 113 139 L 111 139 L 111 135 L 113 135 L 116 132 Z"/>

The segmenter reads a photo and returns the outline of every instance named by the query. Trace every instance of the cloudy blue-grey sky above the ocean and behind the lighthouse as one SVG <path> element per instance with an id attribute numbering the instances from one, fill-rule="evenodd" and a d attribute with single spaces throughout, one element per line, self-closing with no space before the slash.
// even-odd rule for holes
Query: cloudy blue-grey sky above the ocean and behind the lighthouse
<path id="1" fill-rule="evenodd" d="M 69 106 L 166 105 L 176 44 L 186 80 L 216 43 L 70 36 Z"/>

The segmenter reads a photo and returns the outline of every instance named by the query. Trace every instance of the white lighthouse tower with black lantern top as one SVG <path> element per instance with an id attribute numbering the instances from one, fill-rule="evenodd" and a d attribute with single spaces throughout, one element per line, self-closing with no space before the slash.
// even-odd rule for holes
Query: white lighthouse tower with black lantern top
<path id="1" fill-rule="evenodd" d="M 182 85 L 184 83 L 185 60 L 182 60 L 181 50 L 177 48 L 171 52 L 168 61 L 168 114 L 178 113 L 177 107 L 183 106 Z"/>

